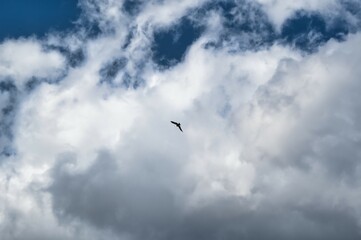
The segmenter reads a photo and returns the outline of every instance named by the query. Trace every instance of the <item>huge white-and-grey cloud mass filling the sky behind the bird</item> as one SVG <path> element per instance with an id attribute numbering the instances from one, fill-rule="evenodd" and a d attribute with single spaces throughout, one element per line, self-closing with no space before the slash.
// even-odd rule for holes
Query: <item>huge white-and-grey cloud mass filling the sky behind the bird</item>
<path id="1" fill-rule="evenodd" d="M 170 9 L 151 32 L 193 4 L 149 4 L 137 17 L 139 29 L 155 15 L 149 9 Z M 126 25 L 116 29 L 85 40 L 84 63 L 58 84 L 23 96 L 13 130 L 17 154 L 0 168 L 1 236 L 359 237 L 360 34 L 304 56 L 277 45 L 206 49 L 217 34 L 211 32 L 183 62 L 159 71 L 147 58 L 148 33 L 138 29 L 123 49 Z M 28 65 L 30 57 L 21 62 L 4 54 L 8 69 L 27 66 L 7 73 L 18 84 L 65 68 L 40 43 L 6 44 L 33 49 L 38 59 Z M 99 84 L 99 70 L 119 57 L 130 59 L 121 71 L 139 74 L 144 86 Z M 184 133 L 170 120 L 180 121 Z"/>

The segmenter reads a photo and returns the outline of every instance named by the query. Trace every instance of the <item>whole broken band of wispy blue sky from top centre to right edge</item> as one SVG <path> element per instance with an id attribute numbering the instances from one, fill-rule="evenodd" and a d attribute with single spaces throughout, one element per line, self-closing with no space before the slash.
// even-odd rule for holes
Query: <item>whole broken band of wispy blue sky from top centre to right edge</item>
<path id="1" fill-rule="evenodd" d="M 351 3 L 346 6 L 350 8 Z M 350 12 L 346 8 L 353 16 L 361 14 L 356 7 L 353 10 Z M 287 19 L 279 32 L 259 4 L 243 0 L 218 0 L 189 12 L 192 18 L 184 17 L 174 26 L 155 32 L 153 61 L 161 68 L 181 62 L 188 47 L 203 33 L 205 26 L 200 24 L 206 22 L 205 18 L 210 11 L 216 11 L 222 16 L 223 30 L 218 39 L 205 45 L 206 48 L 232 46 L 232 50 L 243 51 L 283 44 L 312 53 L 330 39 L 342 41 L 355 30 L 342 11 L 330 17 L 301 10 Z"/>

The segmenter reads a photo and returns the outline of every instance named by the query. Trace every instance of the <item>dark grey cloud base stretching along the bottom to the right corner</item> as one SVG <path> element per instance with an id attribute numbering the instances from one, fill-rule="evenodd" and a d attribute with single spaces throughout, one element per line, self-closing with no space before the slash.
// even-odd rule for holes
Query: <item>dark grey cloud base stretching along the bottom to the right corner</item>
<path id="1" fill-rule="evenodd" d="M 308 203 L 296 199 L 283 202 L 282 195 L 262 191 L 265 198 L 254 207 L 254 201 L 259 200 L 255 191 L 245 198 L 225 197 L 187 209 L 179 205 L 179 200 L 186 197 L 181 196 L 185 193 L 179 191 L 179 186 L 162 186 L 159 178 L 164 175 L 155 175 L 149 166 L 138 165 L 122 174 L 114 157 L 101 152 L 90 168 L 74 173 L 72 159 L 63 156 L 52 170 L 54 182 L 49 191 L 61 221 L 80 219 L 135 239 L 359 237 L 355 216 L 342 205 L 330 206 L 316 199 Z M 168 180 L 173 181 L 171 176 Z M 288 189 L 284 194 L 294 191 Z"/>

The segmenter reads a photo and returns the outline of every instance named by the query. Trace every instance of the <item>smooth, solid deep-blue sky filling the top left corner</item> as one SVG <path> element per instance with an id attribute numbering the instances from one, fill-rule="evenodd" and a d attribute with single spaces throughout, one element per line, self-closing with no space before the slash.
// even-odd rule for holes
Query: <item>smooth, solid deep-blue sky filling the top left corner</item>
<path id="1" fill-rule="evenodd" d="M 76 25 L 80 15 L 76 0 L 1 0 L 0 41 L 65 31 Z"/>

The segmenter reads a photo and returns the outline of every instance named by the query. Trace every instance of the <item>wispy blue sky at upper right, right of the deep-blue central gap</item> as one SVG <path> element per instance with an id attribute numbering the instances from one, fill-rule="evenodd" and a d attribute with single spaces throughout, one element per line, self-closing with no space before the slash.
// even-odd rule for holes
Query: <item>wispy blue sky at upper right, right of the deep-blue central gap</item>
<path id="1" fill-rule="evenodd" d="M 320 13 L 298 11 L 285 21 L 281 32 L 277 32 L 257 4 L 221 1 L 217 7 L 224 18 L 224 32 L 214 46 L 223 46 L 230 39 L 236 39 L 245 50 L 279 42 L 312 52 L 330 39 L 343 40 L 350 29 L 343 16 L 333 16 L 329 22 Z M 247 35 L 250 37 L 245 38 Z"/>

